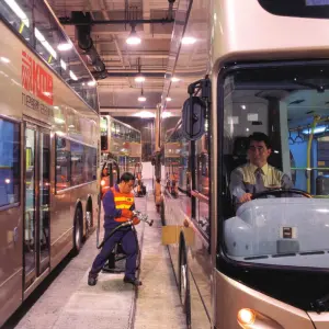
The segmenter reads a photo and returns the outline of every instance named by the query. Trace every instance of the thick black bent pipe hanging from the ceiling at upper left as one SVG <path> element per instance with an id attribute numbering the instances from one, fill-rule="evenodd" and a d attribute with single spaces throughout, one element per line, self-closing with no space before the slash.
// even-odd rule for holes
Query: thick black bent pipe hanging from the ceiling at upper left
<path id="1" fill-rule="evenodd" d="M 91 21 L 90 14 L 86 15 L 82 12 L 72 12 L 75 19 Z M 93 66 L 95 71 L 98 72 L 99 78 L 106 78 L 106 67 L 102 61 L 98 50 L 93 45 L 93 41 L 91 38 L 91 26 L 83 25 L 77 26 L 78 32 L 78 45 L 80 49 L 83 50 L 83 54 L 87 56 L 89 63 Z"/>

